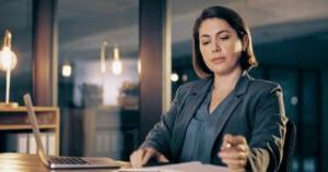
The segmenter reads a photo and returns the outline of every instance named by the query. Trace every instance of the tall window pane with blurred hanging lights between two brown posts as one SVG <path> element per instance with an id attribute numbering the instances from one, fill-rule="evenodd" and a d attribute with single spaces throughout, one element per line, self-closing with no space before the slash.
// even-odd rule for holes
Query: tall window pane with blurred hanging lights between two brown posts
<path id="1" fill-rule="evenodd" d="M 59 0 L 63 155 L 128 159 L 139 144 L 138 5 Z"/>

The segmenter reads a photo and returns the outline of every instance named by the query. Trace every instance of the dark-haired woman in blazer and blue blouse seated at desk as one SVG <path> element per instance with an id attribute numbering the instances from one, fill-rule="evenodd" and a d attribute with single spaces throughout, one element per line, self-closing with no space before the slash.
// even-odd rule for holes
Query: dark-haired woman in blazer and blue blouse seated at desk
<path id="1" fill-rule="evenodd" d="M 257 61 L 243 19 L 223 7 L 203 10 L 194 26 L 192 60 L 201 79 L 179 87 L 131 164 L 196 160 L 232 171 L 277 171 L 288 120 L 282 91 L 247 74 Z"/>

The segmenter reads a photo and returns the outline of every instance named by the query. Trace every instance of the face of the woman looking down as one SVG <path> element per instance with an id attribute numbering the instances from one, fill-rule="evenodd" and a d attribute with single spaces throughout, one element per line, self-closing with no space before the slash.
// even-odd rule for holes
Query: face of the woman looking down
<path id="1" fill-rule="evenodd" d="M 213 17 L 201 23 L 199 48 L 204 63 L 215 74 L 224 75 L 242 69 L 243 42 L 224 20 Z"/>

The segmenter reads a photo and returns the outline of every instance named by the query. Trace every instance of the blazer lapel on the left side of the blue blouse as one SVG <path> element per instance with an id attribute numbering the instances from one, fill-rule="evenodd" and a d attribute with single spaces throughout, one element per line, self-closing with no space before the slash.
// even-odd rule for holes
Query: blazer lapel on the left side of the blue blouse
<path id="1" fill-rule="evenodd" d="M 180 113 L 177 115 L 171 140 L 172 158 L 174 161 L 178 160 L 180 149 L 185 140 L 187 126 L 210 90 L 212 81 L 213 79 L 207 79 L 198 83 L 198 85 L 192 88 L 190 96 L 186 98 L 184 107 Z"/>

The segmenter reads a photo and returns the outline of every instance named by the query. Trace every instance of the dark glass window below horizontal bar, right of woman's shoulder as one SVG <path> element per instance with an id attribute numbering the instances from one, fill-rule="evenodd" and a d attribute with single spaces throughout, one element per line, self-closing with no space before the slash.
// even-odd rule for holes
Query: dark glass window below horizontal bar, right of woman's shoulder
<path id="1" fill-rule="evenodd" d="M 280 83 L 284 91 L 288 116 L 297 124 L 294 171 L 317 171 L 320 140 L 318 72 L 295 67 L 271 67 L 269 79 Z"/>

